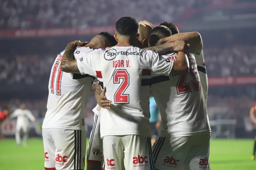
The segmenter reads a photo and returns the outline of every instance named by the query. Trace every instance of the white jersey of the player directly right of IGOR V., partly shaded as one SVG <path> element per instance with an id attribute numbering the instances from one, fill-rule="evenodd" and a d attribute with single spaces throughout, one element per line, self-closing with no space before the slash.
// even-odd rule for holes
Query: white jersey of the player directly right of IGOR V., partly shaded
<path id="1" fill-rule="evenodd" d="M 177 59 L 177 54 L 163 55 Z M 189 73 L 153 77 L 151 91 L 162 117 L 162 129 L 175 136 L 210 131 L 206 99 L 200 83 L 195 57 L 189 57 Z"/>

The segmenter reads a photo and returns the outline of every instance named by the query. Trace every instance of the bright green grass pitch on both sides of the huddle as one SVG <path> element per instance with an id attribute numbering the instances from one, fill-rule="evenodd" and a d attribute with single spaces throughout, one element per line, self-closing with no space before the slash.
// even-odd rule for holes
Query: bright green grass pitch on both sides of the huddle
<path id="1" fill-rule="evenodd" d="M 256 170 L 252 147 L 253 139 L 212 139 L 211 169 Z M 14 139 L 0 140 L 0 170 L 44 170 L 42 139 L 29 139 L 27 147 L 17 147 Z"/>

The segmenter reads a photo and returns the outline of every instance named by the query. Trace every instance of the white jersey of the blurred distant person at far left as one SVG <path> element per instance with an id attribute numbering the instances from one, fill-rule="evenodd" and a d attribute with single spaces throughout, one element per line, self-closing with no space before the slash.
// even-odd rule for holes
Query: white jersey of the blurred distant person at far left
<path id="1" fill-rule="evenodd" d="M 11 115 L 10 118 L 17 117 L 16 126 L 29 126 L 29 120 L 35 121 L 35 116 L 31 113 L 31 111 L 27 109 L 16 109 Z"/>

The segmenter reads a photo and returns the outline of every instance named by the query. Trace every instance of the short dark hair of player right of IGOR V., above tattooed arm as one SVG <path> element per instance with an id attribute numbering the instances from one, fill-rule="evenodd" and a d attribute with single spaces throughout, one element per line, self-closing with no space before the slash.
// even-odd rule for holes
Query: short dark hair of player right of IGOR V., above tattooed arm
<path id="1" fill-rule="evenodd" d="M 150 31 L 148 42 L 150 46 L 155 46 L 159 39 L 169 37 L 171 35 L 171 30 L 166 26 L 156 26 Z"/>

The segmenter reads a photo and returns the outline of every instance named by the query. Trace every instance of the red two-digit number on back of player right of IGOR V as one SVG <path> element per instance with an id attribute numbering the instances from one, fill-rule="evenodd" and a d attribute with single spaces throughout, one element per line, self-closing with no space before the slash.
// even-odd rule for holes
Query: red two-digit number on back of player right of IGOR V
<path id="1" fill-rule="evenodd" d="M 193 79 L 191 80 L 191 82 L 186 83 L 186 79 L 189 74 Z M 195 60 L 192 57 L 189 57 L 189 74 L 180 76 L 180 79 L 176 86 L 178 94 L 190 92 L 191 91 L 190 84 L 192 85 L 195 91 L 200 90 L 200 78 L 199 78 L 198 70 L 195 65 Z"/>

